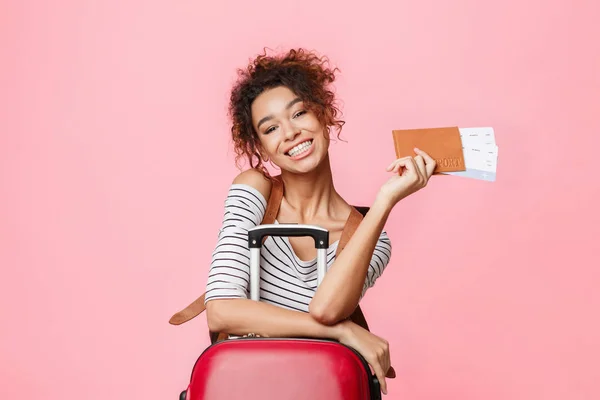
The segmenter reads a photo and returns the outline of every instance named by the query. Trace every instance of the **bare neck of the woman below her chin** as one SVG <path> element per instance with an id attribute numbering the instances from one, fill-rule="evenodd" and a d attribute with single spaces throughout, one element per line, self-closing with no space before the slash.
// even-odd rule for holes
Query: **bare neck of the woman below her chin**
<path id="1" fill-rule="evenodd" d="M 340 196 L 333 185 L 329 155 L 313 171 L 296 174 L 283 170 L 281 179 L 285 187 L 284 199 L 302 221 L 333 216 Z"/>

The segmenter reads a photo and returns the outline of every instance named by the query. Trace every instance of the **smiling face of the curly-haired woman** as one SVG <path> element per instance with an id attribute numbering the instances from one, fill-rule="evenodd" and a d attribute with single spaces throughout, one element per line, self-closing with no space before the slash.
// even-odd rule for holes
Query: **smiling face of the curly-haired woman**
<path id="1" fill-rule="evenodd" d="M 261 153 L 282 170 L 305 173 L 326 157 L 329 138 L 315 114 L 287 87 L 261 93 L 252 103 Z"/>

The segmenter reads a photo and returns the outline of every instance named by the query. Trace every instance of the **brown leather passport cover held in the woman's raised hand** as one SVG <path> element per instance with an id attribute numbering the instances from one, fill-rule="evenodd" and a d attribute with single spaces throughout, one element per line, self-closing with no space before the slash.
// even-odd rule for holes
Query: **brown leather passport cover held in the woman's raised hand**
<path id="1" fill-rule="evenodd" d="M 416 156 L 419 148 L 436 160 L 434 174 L 465 170 L 458 127 L 393 130 L 396 157 Z"/>

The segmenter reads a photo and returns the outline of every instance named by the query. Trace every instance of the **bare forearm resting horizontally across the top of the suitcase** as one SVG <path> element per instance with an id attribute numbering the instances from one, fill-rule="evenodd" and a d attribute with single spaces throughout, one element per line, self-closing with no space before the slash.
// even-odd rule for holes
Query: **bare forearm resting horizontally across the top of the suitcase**
<path id="1" fill-rule="evenodd" d="M 309 313 L 249 299 L 212 300 L 206 306 L 209 329 L 242 336 L 311 337 L 339 340 L 341 328 L 317 322 Z"/>

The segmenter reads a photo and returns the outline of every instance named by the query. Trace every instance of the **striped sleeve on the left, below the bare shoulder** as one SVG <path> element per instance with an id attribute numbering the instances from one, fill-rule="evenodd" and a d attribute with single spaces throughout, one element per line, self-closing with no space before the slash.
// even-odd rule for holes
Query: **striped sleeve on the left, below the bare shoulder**
<path id="1" fill-rule="evenodd" d="M 254 187 L 232 184 L 206 283 L 207 303 L 214 299 L 247 298 L 250 283 L 248 229 L 259 225 L 267 202 Z"/>

